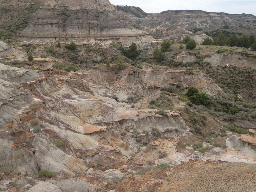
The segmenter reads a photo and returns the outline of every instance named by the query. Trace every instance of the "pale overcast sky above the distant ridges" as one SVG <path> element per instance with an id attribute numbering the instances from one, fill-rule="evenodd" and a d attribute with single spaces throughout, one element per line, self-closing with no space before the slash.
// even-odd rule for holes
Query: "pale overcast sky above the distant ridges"
<path id="1" fill-rule="evenodd" d="M 207 12 L 246 13 L 256 15 L 256 0 L 109 0 L 115 5 L 140 7 L 157 13 L 166 10 L 203 10 Z"/>

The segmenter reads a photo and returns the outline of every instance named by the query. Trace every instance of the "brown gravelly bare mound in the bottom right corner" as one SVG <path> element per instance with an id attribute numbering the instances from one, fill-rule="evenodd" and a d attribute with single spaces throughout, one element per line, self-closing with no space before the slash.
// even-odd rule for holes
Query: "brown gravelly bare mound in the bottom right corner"
<path id="1" fill-rule="evenodd" d="M 190 160 L 122 181 L 115 192 L 255 191 L 255 165 Z M 243 177 L 241 177 L 243 175 Z"/>

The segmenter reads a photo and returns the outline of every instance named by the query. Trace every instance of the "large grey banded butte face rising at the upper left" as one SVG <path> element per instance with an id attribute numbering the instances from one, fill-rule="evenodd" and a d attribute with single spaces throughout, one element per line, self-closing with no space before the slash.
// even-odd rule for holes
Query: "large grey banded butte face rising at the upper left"
<path id="1" fill-rule="evenodd" d="M 119 14 L 109 1 L 42 1 L 31 15 L 21 40 L 54 41 L 60 37 L 115 38 L 144 35 Z"/>

